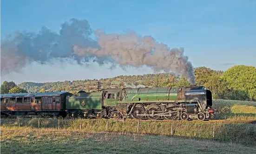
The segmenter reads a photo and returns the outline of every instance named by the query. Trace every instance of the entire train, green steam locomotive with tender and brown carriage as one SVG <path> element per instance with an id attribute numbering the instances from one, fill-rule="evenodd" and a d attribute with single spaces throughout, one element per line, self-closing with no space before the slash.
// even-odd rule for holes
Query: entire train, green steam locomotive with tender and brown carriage
<path id="1" fill-rule="evenodd" d="M 217 110 L 204 86 L 1 94 L 1 116 L 207 120 Z"/>

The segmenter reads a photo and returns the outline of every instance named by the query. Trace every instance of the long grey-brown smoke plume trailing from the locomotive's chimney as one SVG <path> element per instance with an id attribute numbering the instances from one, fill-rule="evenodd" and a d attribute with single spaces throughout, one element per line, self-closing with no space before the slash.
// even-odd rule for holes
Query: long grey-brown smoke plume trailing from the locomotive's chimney
<path id="1" fill-rule="evenodd" d="M 97 40 L 92 39 L 92 34 Z M 94 33 L 87 20 L 72 18 L 61 25 L 59 33 L 43 27 L 38 34 L 16 32 L 1 41 L 1 74 L 19 70 L 31 62 L 46 64 L 54 58 L 72 58 L 78 64 L 93 59 L 99 65 L 112 67 L 148 66 L 155 71 L 185 75 L 195 83 L 193 67 L 184 56 L 184 49 L 170 49 L 157 43 L 151 36 L 139 37 L 135 32 L 126 34 Z"/>

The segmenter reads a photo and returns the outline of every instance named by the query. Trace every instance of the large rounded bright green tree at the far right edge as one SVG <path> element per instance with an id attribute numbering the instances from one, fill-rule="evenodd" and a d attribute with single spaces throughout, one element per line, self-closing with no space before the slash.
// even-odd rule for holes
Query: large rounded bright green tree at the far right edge
<path id="1" fill-rule="evenodd" d="M 236 89 L 244 95 L 247 93 L 250 99 L 256 96 L 256 68 L 253 66 L 236 65 L 222 75 L 223 82 L 228 89 Z M 245 97 L 245 96 L 244 96 Z"/>

